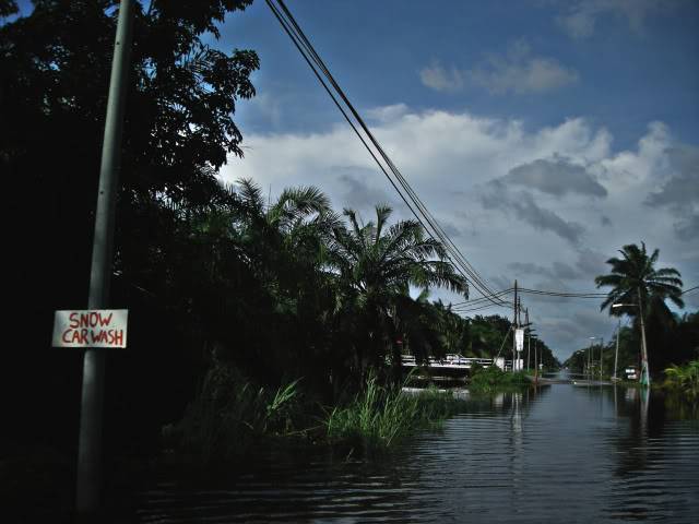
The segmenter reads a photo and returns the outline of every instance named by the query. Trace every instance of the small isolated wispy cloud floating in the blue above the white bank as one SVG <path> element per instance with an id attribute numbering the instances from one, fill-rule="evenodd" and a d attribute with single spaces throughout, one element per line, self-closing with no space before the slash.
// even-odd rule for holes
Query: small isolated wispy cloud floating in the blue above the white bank
<path id="1" fill-rule="evenodd" d="M 458 92 L 471 85 L 496 95 L 542 94 L 578 82 L 578 72 L 556 59 L 533 56 L 529 44 L 517 40 L 503 55 L 489 53 L 475 68 L 443 68 L 434 61 L 420 71 L 423 84 L 435 91 Z"/>

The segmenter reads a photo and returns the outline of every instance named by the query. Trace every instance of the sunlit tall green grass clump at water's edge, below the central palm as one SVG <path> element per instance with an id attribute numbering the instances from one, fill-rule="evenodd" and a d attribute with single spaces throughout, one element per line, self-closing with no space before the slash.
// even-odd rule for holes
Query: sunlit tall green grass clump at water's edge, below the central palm
<path id="1" fill-rule="evenodd" d="M 330 442 L 387 449 L 417 429 L 439 426 L 461 407 L 451 394 L 428 390 L 407 395 L 401 389 L 381 385 L 376 376 L 369 376 L 352 402 L 328 415 L 324 425 Z"/>

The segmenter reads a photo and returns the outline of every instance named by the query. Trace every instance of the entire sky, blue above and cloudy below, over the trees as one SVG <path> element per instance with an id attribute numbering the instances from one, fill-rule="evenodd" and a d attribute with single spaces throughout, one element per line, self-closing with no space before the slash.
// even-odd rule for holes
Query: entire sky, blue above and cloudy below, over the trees
<path id="1" fill-rule="evenodd" d="M 641 240 L 699 283 L 698 2 L 287 5 L 493 287 L 592 290 L 604 261 Z M 264 2 L 229 16 L 216 45 L 261 59 L 236 117 L 246 158 L 223 178 L 272 195 L 316 184 L 367 219 L 377 202 L 410 216 Z M 616 324 L 594 300 L 524 301 L 561 359 Z"/>

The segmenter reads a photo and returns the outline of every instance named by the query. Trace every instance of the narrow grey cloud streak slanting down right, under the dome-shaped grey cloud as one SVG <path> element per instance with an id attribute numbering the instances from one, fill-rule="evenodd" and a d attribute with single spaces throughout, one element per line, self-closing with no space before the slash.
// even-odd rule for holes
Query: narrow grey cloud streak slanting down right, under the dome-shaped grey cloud
<path id="1" fill-rule="evenodd" d="M 584 234 L 580 224 L 567 222 L 553 211 L 541 207 L 525 191 L 509 194 L 499 181 L 491 182 L 490 186 L 496 190 L 482 195 L 484 207 L 512 211 L 519 219 L 536 229 L 552 231 L 573 245 L 580 243 Z"/>

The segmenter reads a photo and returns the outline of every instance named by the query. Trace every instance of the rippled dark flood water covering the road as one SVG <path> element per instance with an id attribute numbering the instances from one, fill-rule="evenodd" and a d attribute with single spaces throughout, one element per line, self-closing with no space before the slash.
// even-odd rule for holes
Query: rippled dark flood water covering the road
<path id="1" fill-rule="evenodd" d="M 699 421 L 654 393 L 553 384 L 472 398 L 389 456 L 272 450 L 139 500 L 144 523 L 696 523 Z"/>

